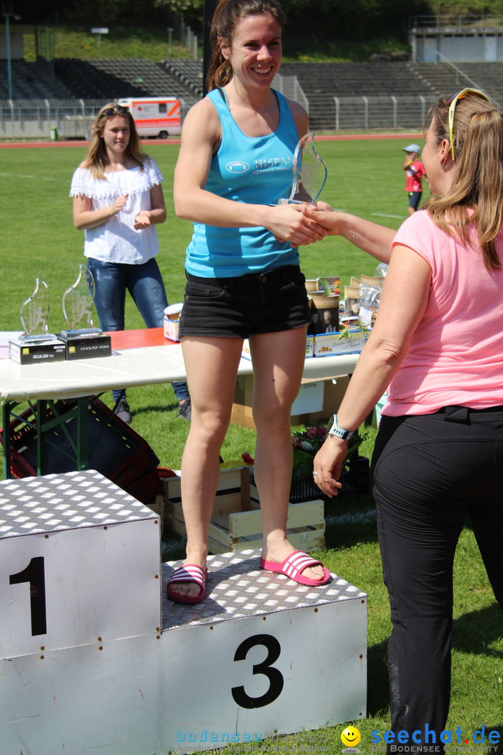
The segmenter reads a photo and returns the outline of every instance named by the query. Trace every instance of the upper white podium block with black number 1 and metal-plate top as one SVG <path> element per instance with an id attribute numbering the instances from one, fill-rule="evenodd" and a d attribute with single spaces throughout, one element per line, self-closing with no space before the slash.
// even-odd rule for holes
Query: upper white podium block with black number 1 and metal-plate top
<path id="1" fill-rule="evenodd" d="M 0 482 L 0 658 L 158 633 L 159 544 L 94 470 Z"/>

